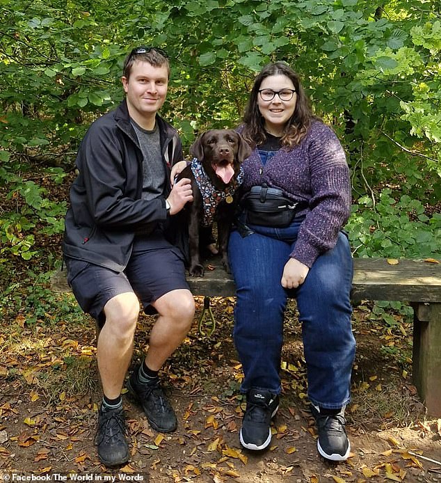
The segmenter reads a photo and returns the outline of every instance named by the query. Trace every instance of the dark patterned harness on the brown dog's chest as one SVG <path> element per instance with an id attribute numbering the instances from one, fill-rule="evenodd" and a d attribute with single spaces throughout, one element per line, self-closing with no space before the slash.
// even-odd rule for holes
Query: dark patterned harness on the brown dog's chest
<path id="1" fill-rule="evenodd" d="M 214 214 L 218 204 L 223 200 L 226 200 L 227 203 L 229 203 L 230 199 L 230 203 L 232 203 L 234 192 L 243 182 L 243 168 L 242 166 L 240 167 L 239 174 L 237 175 L 236 179 L 232 180 L 230 184 L 227 184 L 225 190 L 219 190 L 216 189 L 213 184 L 211 184 L 211 181 L 207 173 L 205 173 L 205 169 L 198 158 L 193 158 L 190 166 L 191 172 L 195 177 L 196 184 L 198 184 L 200 195 L 202 196 L 202 209 L 204 210 L 204 219 L 202 224 L 204 226 L 209 226 L 211 223 L 213 223 Z"/>

